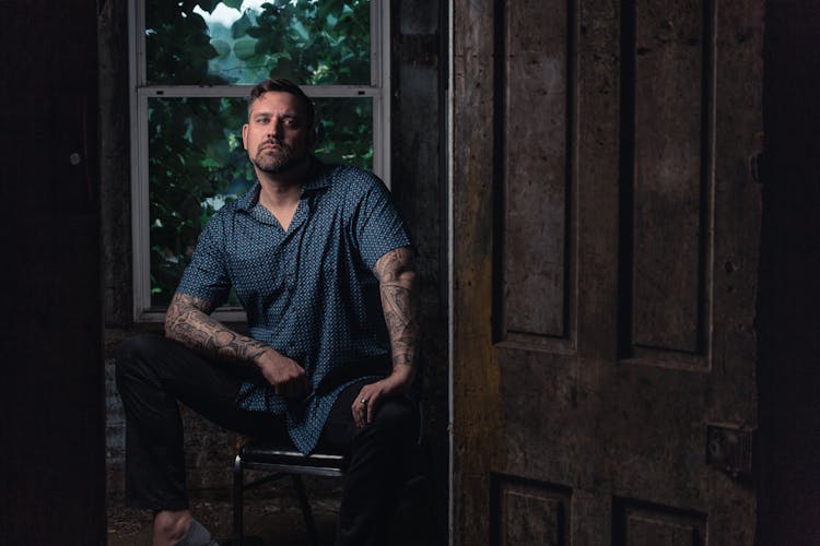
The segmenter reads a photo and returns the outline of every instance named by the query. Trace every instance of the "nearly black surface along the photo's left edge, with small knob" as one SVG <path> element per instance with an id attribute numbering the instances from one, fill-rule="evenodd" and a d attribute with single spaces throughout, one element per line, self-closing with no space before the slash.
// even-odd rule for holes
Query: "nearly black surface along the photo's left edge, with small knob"
<path id="1" fill-rule="evenodd" d="M 96 2 L 0 13 L 0 544 L 105 544 Z"/>

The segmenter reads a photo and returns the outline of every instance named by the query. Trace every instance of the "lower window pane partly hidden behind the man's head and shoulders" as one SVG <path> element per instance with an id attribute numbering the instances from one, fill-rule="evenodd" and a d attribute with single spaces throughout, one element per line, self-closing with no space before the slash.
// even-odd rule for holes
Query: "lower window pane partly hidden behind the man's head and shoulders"
<path id="1" fill-rule="evenodd" d="M 372 168 L 372 99 L 315 103 L 320 123 L 316 155 Z M 242 146 L 244 98 L 151 98 L 148 116 L 151 306 L 164 307 L 201 228 L 250 188 L 256 175 Z"/>

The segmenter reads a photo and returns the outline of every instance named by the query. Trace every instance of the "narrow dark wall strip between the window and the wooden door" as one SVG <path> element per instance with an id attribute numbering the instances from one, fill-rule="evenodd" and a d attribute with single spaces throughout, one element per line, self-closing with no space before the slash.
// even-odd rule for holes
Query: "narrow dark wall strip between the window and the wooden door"
<path id="1" fill-rule="evenodd" d="M 423 319 L 425 428 L 422 460 L 430 477 L 441 535 L 447 513 L 447 195 L 444 167 L 447 82 L 446 2 L 394 0 L 393 14 L 393 192 L 419 249 Z"/>

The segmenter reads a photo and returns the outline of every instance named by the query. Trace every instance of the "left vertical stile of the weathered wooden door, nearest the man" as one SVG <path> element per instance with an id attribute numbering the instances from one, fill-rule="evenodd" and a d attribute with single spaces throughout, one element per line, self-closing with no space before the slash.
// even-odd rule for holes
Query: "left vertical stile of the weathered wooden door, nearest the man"
<path id="1" fill-rule="evenodd" d="M 490 468 L 503 466 L 502 406 L 494 365 L 493 3 L 454 4 L 453 14 L 453 476 L 456 545 L 489 536 Z"/>

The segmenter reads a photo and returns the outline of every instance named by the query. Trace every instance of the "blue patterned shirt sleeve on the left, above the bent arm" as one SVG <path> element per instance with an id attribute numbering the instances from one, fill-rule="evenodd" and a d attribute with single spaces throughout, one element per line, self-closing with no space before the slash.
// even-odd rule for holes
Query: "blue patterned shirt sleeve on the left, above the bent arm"
<path id="1" fill-rule="evenodd" d="M 219 307 L 227 299 L 231 280 L 225 261 L 224 217 L 216 214 L 199 234 L 191 261 L 176 292 L 210 301 Z"/>

